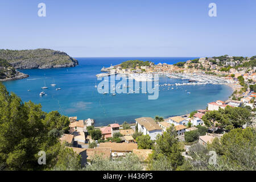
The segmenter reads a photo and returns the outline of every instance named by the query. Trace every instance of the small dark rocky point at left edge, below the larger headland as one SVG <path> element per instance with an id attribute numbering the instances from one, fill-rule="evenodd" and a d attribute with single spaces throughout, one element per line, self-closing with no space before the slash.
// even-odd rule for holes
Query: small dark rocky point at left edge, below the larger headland
<path id="1" fill-rule="evenodd" d="M 0 81 L 16 80 L 28 77 L 27 74 L 16 71 L 6 60 L 0 59 Z"/>

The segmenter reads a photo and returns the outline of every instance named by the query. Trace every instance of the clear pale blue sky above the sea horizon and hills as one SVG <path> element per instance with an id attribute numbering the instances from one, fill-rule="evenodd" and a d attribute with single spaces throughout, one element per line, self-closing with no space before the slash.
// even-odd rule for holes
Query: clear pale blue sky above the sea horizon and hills
<path id="1" fill-rule="evenodd" d="M 217 17 L 208 16 L 211 2 Z M 253 56 L 255 12 L 255 0 L 1 0 L 0 48 L 74 57 Z"/>

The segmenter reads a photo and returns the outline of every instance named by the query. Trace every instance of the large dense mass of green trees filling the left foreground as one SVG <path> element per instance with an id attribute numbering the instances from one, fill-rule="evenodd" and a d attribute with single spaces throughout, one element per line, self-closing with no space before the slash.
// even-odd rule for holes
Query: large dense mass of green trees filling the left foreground
<path id="1" fill-rule="evenodd" d="M 9 94 L 0 83 L 0 169 L 40 170 L 56 164 L 57 137 L 68 130 L 67 117 L 57 111 L 46 113 L 42 106 Z M 46 165 L 38 164 L 38 152 L 46 152 Z"/>

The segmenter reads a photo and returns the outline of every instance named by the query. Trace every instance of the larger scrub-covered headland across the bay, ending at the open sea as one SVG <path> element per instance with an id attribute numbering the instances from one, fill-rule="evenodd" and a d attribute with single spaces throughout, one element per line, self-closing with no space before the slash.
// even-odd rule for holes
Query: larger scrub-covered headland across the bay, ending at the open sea
<path id="1" fill-rule="evenodd" d="M 8 61 L 15 69 L 64 68 L 78 65 L 78 61 L 67 53 L 52 49 L 0 49 L 0 58 Z"/>

